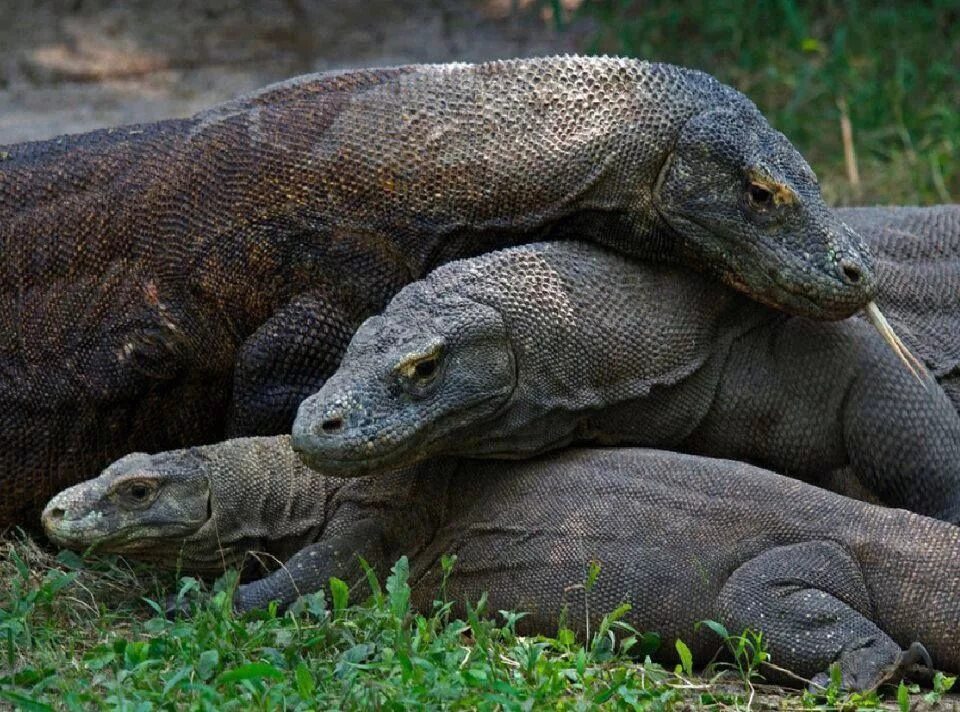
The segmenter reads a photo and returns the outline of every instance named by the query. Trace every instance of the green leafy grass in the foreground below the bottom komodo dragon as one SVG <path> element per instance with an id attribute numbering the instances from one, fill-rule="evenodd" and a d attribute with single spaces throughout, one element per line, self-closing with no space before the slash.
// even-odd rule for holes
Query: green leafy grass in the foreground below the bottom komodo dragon
<path id="1" fill-rule="evenodd" d="M 876 693 L 824 695 L 761 684 L 762 638 L 726 638 L 732 664 L 695 677 L 644 657 L 659 641 L 623 623 L 621 608 L 591 640 L 565 628 L 554 637 L 516 634 L 521 612 L 489 612 L 483 601 L 465 620 L 438 593 L 430 615 L 410 610 L 401 560 L 381 586 L 369 575 L 361 605 L 346 584 L 302 598 L 290 611 L 235 616 L 236 573 L 212 587 L 192 578 L 135 568 L 114 557 L 53 557 L 27 538 L 0 543 L 0 706 L 26 710 L 153 709 L 863 709 Z M 447 566 L 452 566 L 449 562 Z M 448 569 L 449 570 L 449 569 Z M 595 574 L 593 574 L 595 577 Z M 589 581 L 586 585 L 589 586 Z M 192 610 L 162 615 L 173 590 Z M 354 592 L 355 594 L 357 592 Z M 901 687 L 903 710 L 931 704 L 935 690 Z M 898 699 L 898 696 L 902 699 Z"/>

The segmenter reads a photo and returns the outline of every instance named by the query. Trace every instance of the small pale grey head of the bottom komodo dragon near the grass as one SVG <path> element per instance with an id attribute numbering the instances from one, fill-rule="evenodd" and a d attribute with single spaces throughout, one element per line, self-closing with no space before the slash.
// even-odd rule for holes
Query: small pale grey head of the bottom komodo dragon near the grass
<path id="1" fill-rule="evenodd" d="M 127 455 L 53 497 L 42 515 L 47 536 L 59 546 L 170 566 L 189 556 L 182 543 L 211 518 L 206 463 L 192 450 Z"/>

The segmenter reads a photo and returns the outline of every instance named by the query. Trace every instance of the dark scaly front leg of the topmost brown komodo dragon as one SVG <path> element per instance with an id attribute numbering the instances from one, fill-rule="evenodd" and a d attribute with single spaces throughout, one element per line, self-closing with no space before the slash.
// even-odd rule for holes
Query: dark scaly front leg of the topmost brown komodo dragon
<path id="1" fill-rule="evenodd" d="M 300 294 L 244 342 L 234 370 L 229 437 L 290 430 L 300 402 L 336 370 L 365 316 L 344 301 Z"/>

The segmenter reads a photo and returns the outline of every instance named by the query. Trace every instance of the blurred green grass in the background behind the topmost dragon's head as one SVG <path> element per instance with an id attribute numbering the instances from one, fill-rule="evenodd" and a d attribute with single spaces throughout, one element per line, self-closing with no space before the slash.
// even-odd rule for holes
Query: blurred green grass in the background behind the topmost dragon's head
<path id="1" fill-rule="evenodd" d="M 955 0 L 586 0 L 578 12 L 597 28 L 590 51 L 696 67 L 745 92 L 832 203 L 960 200 Z"/>

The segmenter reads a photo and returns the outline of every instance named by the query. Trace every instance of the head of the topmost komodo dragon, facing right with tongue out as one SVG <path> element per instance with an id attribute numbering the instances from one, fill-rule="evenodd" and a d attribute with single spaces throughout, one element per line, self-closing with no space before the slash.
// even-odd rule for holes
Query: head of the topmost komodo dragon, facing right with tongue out
<path id="1" fill-rule="evenodd" d="M 862 238 L 826 206 L 813 170 L 752 105 L 690 119 L 653 201 L 688 258 L 772 307 L 841 319 L 876 293 Z"/>

